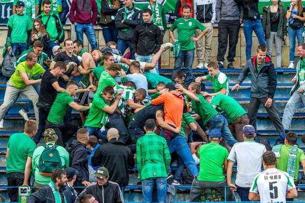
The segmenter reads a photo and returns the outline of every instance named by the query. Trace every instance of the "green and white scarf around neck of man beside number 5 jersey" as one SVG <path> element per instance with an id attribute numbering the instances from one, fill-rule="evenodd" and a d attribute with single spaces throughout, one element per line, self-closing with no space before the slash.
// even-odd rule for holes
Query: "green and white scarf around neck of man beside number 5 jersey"
<path id="1" fill-rule="evenodd" d="M 282 145 L 275 145 L 272 147 L 272 152 L 274 152 L 277 158 L 281 157 L 280 150 Z M 287 165 L 287 173 L 290 177 L 294 178 L 295 175 L 295 163 L 296 163 L 296 155 L 297 155 L 297 145 L 291 147 L 288 157 L 288 165 Z"/>

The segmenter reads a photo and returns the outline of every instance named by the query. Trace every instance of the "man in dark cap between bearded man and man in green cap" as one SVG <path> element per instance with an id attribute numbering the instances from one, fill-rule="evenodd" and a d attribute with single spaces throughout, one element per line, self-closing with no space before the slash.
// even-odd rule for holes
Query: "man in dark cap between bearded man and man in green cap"
<path id="1" fill-rule="evenodd" d="M 68 179 L 66 190 L 64 191 L 66 201 L 67 203 L 74 203 L 77 198 L 77 192 L 73 188 L 73 184 L 76 181 L 76 175 L 78 175 L 79 172 L 72 167 L 65 168 L 65 172 L 67 173 Z"/>

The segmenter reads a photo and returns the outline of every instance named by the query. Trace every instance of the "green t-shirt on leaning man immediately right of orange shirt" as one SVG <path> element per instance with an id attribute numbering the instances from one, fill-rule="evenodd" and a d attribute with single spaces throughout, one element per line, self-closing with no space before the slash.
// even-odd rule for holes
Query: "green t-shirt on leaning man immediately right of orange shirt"
<path id="1" fill-rule="evenodd" d="M 218 112 L 208 103 L 207 100 L 203 98 L 200 94 L 197 94 L 196 97 L 199 98 L 199 101 L 196 102 L 192 100 L 189 96 L 189 99 L 192 102 L 193 111 L 200 116 L 203 121 L 203 124 L 207 123 L 213 116 L 218 114 Z"/>

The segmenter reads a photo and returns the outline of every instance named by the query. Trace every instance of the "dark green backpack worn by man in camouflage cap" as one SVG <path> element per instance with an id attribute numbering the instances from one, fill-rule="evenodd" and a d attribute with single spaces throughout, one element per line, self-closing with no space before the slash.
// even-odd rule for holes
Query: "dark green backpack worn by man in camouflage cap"
<path id="1" fill-rule="evenodd" d="M 52 170 L 55 168 L 62 168 L 62 159 L 59 156 L 59 152 L 56 149 L 58 145 L 48 144 L 43 145 L 45 148 L 39 159 L 38 169 L 39 174 L 43 176 L 52 176 Z"/>

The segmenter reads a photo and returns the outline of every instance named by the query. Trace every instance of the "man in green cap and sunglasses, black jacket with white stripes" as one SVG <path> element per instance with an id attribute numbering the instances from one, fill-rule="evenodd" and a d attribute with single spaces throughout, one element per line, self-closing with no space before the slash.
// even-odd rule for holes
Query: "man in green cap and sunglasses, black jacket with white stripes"
<path id="1" fill-rule="evenodd" d="M 99 167 L 94 177 L 98 179 L 86 187 L 77 197 L 75 203 L 85 194 L 92 194 L 98 202 L 119 203 L 124 202 L 122 192 L 117 183 L 108 181 L 109 172 L 105 167 Z"/>

